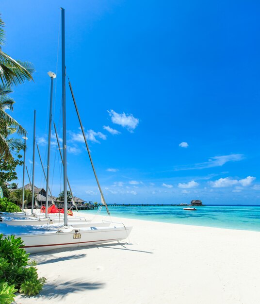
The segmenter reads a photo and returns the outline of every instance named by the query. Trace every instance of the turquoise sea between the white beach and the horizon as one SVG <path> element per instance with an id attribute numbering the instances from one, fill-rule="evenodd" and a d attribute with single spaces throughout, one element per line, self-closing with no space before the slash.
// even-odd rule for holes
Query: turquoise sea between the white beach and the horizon
<path id="1" fill-rule="evenodd" d="M 260 206 L 206 205 L 196 208 L 196 211 L 185 211 L 183 206 L 115 206 L 110 207 L 109 210 L 114 217 L 260 231 Z M 81 212 L 94 216 L 97 210 L 81 210 Z M 105 207 L 100 214 L 106 214 Z"/>

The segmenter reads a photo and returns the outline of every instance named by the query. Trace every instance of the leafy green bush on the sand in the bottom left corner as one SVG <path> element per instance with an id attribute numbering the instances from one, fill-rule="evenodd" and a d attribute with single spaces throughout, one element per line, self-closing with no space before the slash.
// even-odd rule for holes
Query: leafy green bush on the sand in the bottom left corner
<path id="1" fill-rule="evenodd" d="M 22 244 L 20 237 L 0 235 L 0 304 L 11 303 L 17 290 L 28 296 L 36 295 L 46 282 L 38 277 L 35 262 L 29 263 L 29 253 L 21 248 Z"/>

